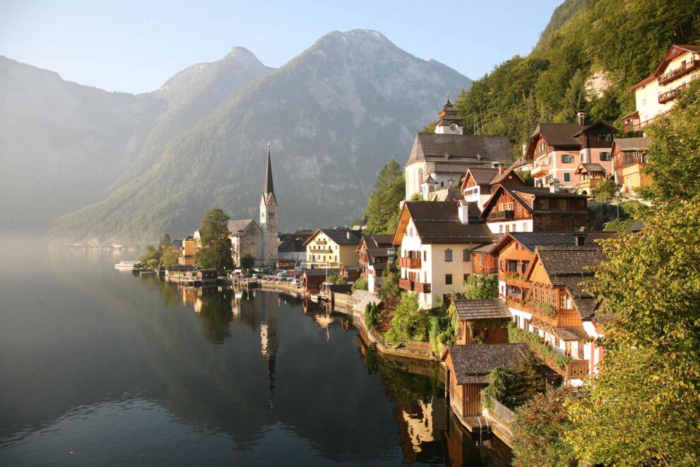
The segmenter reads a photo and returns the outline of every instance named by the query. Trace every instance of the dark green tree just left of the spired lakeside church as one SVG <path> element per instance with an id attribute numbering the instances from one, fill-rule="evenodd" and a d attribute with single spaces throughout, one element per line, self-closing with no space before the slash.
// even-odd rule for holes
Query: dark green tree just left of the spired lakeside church
<path id="1" fill-rule="evenodd" d="M 199 266 L 220 270 L 233 267 L 229 219 L 220 208 L 211 208 L 204 214 L 200 230 L 202 247 L 194 255 Z"/>

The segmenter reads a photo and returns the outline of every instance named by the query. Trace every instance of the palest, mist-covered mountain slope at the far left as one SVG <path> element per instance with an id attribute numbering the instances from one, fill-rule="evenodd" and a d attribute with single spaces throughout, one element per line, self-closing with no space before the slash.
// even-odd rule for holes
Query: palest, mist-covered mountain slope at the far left
<path id="1" fill-rule="evenodd" d="M 3 229 L 36 230 L 96 201 L 134 160 L 165 102 L 0 56 L 0 109 Z"/>

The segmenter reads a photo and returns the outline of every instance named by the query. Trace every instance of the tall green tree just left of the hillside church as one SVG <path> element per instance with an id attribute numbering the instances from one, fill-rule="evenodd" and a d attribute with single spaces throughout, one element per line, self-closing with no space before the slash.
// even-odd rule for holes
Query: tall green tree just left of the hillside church
<path id="1" fill-rule="evenodd" d="M 398 205 L 405 198 L 406 189 L 403 167 L 390 160 L 379 171 L 374 182 L 374 192 L 369 195 L 364 216 L 369 234 L 393 233 L 398 225 Z"/>

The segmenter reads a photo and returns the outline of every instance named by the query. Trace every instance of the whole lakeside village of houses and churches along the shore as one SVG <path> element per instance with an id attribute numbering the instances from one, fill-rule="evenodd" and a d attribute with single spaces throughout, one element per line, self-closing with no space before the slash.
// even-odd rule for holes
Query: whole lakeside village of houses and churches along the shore
<path id="1" fill-rule="evenodd" d="M 220 206 L 192 235 L 117 268 L 183 287 L 278 290 L 350 314 L 368 348 L 439 362 L 462 424 L 511 444 L 514 408 L 604 371 L 611 317 L 595 271 L 606 244 L 643 232 L 621 206 L 653 203 L 638 192 L 653 183 L 647 126 L 698 77 L 700 46 L 674 45 L 631 88 L 636 110 L 623 128 L 584 112 L 539 122 L 516 157 L 506 136 L 466 134 L 448 94 L 434 129 L 415 135 L 391 229 L 364 218 L 279 232 L 285 206 L 268 143 L 259 219 L 232 220 Z M 518 401 L 494 390 L 503 373 L 528 374 L 511 385 Z"/>

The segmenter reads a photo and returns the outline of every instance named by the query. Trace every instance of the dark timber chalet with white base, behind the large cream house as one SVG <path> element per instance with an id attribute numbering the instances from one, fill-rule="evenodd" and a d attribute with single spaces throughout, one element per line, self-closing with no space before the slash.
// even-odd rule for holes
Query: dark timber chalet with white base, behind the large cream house
<path id="1" fill-rule="evenodd" d="M 480 216 L 491 232 L 562 232 L 591 223 L 586 196 L 549 188 L 499 184 Z"/>

